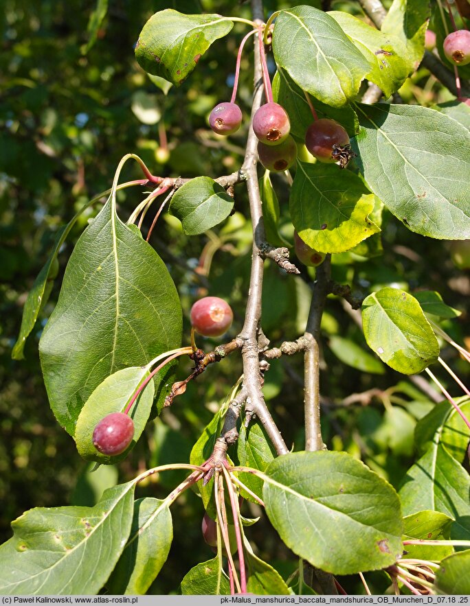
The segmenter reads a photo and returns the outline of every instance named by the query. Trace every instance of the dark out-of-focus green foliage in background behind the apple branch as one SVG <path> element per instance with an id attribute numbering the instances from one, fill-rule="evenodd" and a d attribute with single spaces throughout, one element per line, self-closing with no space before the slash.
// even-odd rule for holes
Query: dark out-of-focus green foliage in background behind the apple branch
<path id="1" fill-rule="evenodd" d="M 318 5 L 318 2 L 310 2 Z M 293 5 L 265 1 L 267 12 Z M 185 395 L 146 430 L 128 460 L 103 477 L 90 475 L 74 442 L 56 423 L 47 404 L 37 345 L 41 329 L 54 307 L 60 279 L 87 218 L 78 221 L 59 255 L 60 270 L 51 299 L 25 348 L 26 360 L 11 360 L 11 348 L 21 324 L 22 305 L 34 278 L 47 259 L 59 226 L 68 222 L 89 198 L 110 187 L 115 167 L 127 152 L 139 154 L 154 174 L 161 176 L 220 176 L 236 170 L 243 157 L 247 111 L 251 101 L 252 51 L 247 47 L 239 89 L 245 126 L 221 140 L 207 126 L 216 102 L 230 98 L 238 43 L 244 28 L 236 25 L 199 62 L 188 82 L 165 95 L 137 66 L 133 45 L 146 19 L 164 8 L 182 12 L 219 12 L 249 17 L 249 5 L 221 0 L 116 0 L 97 32 L 96 43 L 83 54 L 94 1 L 3 0 L 0 15 L 0 539 L 10 537 L 10 521 L 32 506 L 74 502 L 93 504 L 107 485 L 135 476 L 137 471 L 175 461 L 187 462 L 192 445 L 210 421 L 220 401 L 240 374 L 237 355 L 212 365 L 190 383 Z M 333 2 L 345 8 L 346 2 Z M 357 5 L 350 5 L 357 10 Z M 248 45 L 249 46 L 249 45 Z M 142 95 L 161 114 L 151 124 L 140 121 L 135 110 Z M 431 105 L 449 99 L 446 91 L 421 69 L 401 91 L 405 102 Z M 144 119 L 148 123 L 149 119 Z M 163 137 L 163 138 L 162 138 Z M 168 154 L 161 153 L 168 139 Z M 167 157 L 168 156 L 168 157 Z M 126 179 L 142 178 L 133 166 Z M 291 240 L 284 181 L 273 176 L 281 209 L 281 232 Z M 119 196 L 126 219 L 144 197 L 142 191 Z M 99 205 L 98 205 L 99 206 Z M 227 298 L 235 312 L 232 332 L 243 323 L 251 258 L 251 227 L 243 187 L 236 190 L 236 213 L 214 231 L 189 238 L 177 220 L 160 220 L 151 243 L 168 264 L 186 314 L 201 294 Z M 153 213 L 144 222 L 144 234 Z M 412 290 L 438 290 L 444 301 L 465 310 L 470 281 L 456 245 L 430 240 L 407 231 L 385 212 L 383 255 L 335 255 L 333 277 L 350 283 L 356 296 L 382 285 Z M 467 242 L 468 244 L 468 242 Z M 465 244 L 463 245 L 465 246 Z M 469 256 L 467 249 L 467 259 Z M 460 255 L 460 256 L 459 256 Z M 467 264 L 468 267 L 468 264 Z M 262 328 L 273 345 L 297 338 L 304 331 L 309 288 L 315 270 L 302 268 L 302 277 L 285 275 L 267 264 Z M 273 303 L 274 302 L 274 303 Z M 468 312 L 467 312 L 468 313 Z M 469 337 L 468 316 L 443 325 L 458 341 Z M 382 375 L 363 373 L 344 364 L 328 347 L 329 338 L 341 337 L 366 348 L 357 315 L 346 312 L 341 301 L 328 299 L 322 329 L 322 396 L 324 439 L 328 447 L 360 456 L 390 482 L 400 482 L 412 463 L 412 435 L 416 419 L 432 404 L 409 380 L 390 369 Z M 201 340 L 209 349 L 216 342 Z M 441 354 L 459 375 L 467 369 L 454 350 Z M 188 375 L 189 366 L 179 371 Z M 440 373 L 442 375 L 442 373 Z M 445 377 L 443 382 L 447 382 Z M 454 390 L 454 386 L 451 386 Z M 265 394 L 284 439 L 301 450 L 302 360 L 273 360 L 265 377 Z M 353 396 L 352 394 L 358 394 Z M 181 473 L 151 478 L 138 497 L 161 498 L 181 481 Z M 156 481 L 155 481 L 156 480 Z M 250 513 L 250 512 L 248 512 Z M 256 511 L 251 511 L 256 513 Z M 201 541 L 201 500 L 188 491 L 172 508 L 175 540 L 166 566 L 153 586 L 155 593 L 178 590 L 179 579 L 212 552 Z M 289 552 L 269 530 L 265 517 L 248 533 L 261 557 L 289 575 Z M 276 560 L 276 561 L 273 561 Z M 284 561 L 284 563 L 282 563 Z M 348 580 L 345 580 L 347 585 Z M 381 578 L 377 573 L 380 587 Z M 345 586 L 346 586 L 345 585 Z"/>

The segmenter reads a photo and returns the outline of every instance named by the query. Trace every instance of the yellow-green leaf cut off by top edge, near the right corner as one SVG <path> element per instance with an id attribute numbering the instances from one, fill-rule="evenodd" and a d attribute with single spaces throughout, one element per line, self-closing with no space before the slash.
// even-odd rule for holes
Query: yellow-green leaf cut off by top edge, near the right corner
<path id="1" fill-rule="evenodd" d="M 411 71 L 417 69 L 424 54 L 425 33 L 430 16 L 427 0 L 394 0 L 383 20 L 381 31 L 394 34 L 406 48 Z"/>

